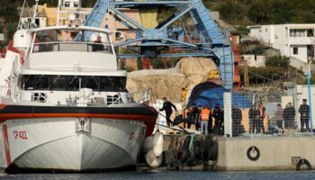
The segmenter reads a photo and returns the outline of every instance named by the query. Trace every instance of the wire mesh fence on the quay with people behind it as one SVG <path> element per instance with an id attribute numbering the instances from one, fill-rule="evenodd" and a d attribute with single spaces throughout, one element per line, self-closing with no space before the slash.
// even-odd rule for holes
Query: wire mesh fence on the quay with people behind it
<path id="1" fill-rule="evenodd" d="M 232 137 L 309 134 L 313 129 L 310 118 L 313 111 L 308 97 L 306 85 L 295 86 L 293 93 L 226 93 L 224 134 Z"/>

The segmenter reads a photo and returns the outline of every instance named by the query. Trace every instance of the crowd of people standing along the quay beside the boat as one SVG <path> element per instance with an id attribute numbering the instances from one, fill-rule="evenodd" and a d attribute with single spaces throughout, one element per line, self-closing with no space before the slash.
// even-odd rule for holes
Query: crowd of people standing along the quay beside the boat
<path id="1" fill-rule="evenodd" d="M 161 111 L 166 111 L 167 125 L 170 126 L 172 121 L 170 116 L 172 114 L 172 107 L 176 110 L 173 103 L 164 100 L 164 105 Z M 300 105 L 299 111 L 301 121 L 301 131 L 311 131 L 309 126 L 310 121 L 310 106 L 307 104 L 307 100 L 303 99 Z M 194 126 L 195 130 L 202 131 L 203 134 L 214 133 L 217 135 L 224 134 L 224 115 L 223 107 L 220 108 L 220 104 L 216 103 L 213 109 L 209 108 L 208 105 L 198 104 L 196 106 L 193 103 L 189 108 L 184 109 L 184 128 L 190 129 Z M 266 107 L 263 103 L 253 103 L 248 111 L 248 132 L 249 133 L 268 133 L 270 130 L 270 124 L 265 127 L 264 120 L 266 119 Z M 238 104 L 234 103 L 231 110 L 232 119 L 232 134 L 238 136 L 245 132 L 244 126 L 242 125 L 243 120 L 242 111 L 238 108 Z M 283 127 L 284 124 L 284 127 Z M 296 129 L 295 124 L 295 109 L 292 103 L 287 103 L 283 109 L 281 104 L 278 103 L 275 110 L 275 126 L 277 130 L 290 130 Z"/>

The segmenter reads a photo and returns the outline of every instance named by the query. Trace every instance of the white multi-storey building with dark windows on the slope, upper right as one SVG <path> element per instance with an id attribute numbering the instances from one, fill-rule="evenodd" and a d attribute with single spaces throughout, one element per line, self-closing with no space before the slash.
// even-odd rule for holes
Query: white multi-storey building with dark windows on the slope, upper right
<path id="1" fill-rule="evenodd" d="M 314 58 L 315 23 L 257 25 L 248 26 L 247 29 L 250 36 L 279 49 L 282 56 L 297 58 L 303 63 Z"/>

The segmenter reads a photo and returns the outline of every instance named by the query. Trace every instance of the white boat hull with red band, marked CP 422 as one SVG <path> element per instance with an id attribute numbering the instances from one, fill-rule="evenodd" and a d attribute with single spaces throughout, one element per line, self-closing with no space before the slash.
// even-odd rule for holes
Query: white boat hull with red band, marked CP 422
<path id="1" fill-rule="evenodd" d="M 109 115 L 103 110 L 95 115 L 88 111 L 68 113 L 76 113 L 74 117 L 45 118 L 40 114 L 47 113 L 32 113 L 36 118 L 14 118 L 13 114 L 30 116 L 27 111 L 23 115 L 0 114 L 3 118 L 12 117 L 1 124 L 1 167 L 11 172 L 16 167 L 88 171 L 136 166 L 139 148 L 152 128 L 148 121 L 155 121 L 156 112 L 126 115 L 121 110 L 121 114 Z"/>

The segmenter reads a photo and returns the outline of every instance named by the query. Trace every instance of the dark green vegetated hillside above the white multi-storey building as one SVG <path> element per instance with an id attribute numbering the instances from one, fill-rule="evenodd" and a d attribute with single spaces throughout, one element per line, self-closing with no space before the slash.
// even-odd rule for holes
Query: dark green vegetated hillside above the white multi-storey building
<path id="1" fill-rule="evenodd" d="M 315 23 L 314 0 L 203 0 L 220 18 L 238 25 Z"/>

